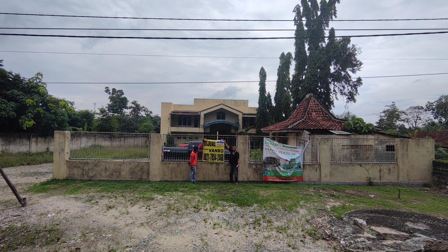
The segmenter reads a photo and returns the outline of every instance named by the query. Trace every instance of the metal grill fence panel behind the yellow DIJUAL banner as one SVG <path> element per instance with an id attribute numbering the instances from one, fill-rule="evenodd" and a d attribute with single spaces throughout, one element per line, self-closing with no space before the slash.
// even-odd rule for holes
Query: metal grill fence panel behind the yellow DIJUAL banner
<path id="1" fill-rule="evenodd" d="M 210 140 L 224 139 L 229 146 L 237 146 L 237 136 L 235 135 L 164 134 L 162 161 L 190 161 L 190 154 L 193 147 L 199 146 L 204 138 Z M 228 162 L 228 158 L 229 153 L 226 150 L 224 153 L 224 162 Z M 201 161 L 202 148 L 198 150 L 198 162 Z"/>

